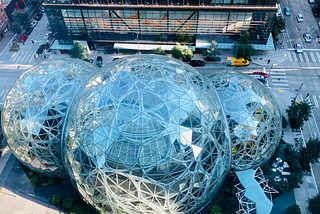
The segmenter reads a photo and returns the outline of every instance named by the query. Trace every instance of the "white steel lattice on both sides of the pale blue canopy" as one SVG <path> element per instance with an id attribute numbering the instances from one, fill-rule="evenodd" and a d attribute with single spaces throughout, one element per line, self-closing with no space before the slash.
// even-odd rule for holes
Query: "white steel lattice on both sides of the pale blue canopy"
<path id="1" fill-rule="evenodd" d="M 268 185 L 268 179 L 265 179 L 260 167 L 255 170 L 254 179 L 272 202 L 272 194 L 279 192 Z M 241 183 L 236 184 L 235 188 L 238 190 L 236 197 L 239 201 L 239 210 L 237 211 L 237 214 L 250 214 L 252 211 L 256 210 L 256 203 L 245 196 L 246 189 L 243 185 Z"/>

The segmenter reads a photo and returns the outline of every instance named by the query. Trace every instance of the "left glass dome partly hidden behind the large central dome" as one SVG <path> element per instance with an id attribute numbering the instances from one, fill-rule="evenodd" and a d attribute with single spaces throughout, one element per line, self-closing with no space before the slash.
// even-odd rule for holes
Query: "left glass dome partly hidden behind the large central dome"
<path id="1" fill-rule="evenodd" d="M 61 129 L 70 101 L 95 67 L 82 60 L 42 62 L 26 71 L 7 94 L 2 125 L 13 154 L 31 170 L 64 176 Z"/>

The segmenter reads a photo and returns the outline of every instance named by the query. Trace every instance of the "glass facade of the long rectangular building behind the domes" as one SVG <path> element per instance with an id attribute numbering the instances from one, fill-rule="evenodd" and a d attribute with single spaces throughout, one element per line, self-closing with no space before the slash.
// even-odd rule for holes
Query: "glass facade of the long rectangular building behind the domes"
<path id="1" fill-rule="evenodd" d="M 230 1 L 230 0 L 229 0 Z M 230 1 L 231 2 L 231 1 Z M 51 29 L 59 40 L 99 42 L 175 43 L 195 45 L 197 40 L 211 43 L 234 42 L 249 32 L 253 44 L 265 44 L 273 28 L 277 7 L 208 6 L 102 6 L 95 4 L 45 4 Z M 239 1 L 240 2 L 240 1 Z M 154 3 L 153 3 L 154 4 Z M 226 4 L 226 3 L 224 3 Z"/>

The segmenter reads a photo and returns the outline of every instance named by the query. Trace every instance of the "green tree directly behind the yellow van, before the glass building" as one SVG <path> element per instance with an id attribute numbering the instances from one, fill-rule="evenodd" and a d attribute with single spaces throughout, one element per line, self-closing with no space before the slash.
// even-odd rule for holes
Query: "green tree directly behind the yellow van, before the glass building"
<path id="1" fill-rule="evenodd" d="M 250 34 L 247 32 L 240 36 L 236 42 L 236 57 L 250 60 L 251 56 L 256 53 L 256 50 L 251 45 Z"/>

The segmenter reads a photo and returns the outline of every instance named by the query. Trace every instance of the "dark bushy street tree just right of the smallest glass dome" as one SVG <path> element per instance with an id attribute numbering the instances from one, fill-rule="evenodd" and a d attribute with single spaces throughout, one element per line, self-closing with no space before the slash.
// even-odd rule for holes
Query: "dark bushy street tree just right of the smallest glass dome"
<path id="1" fill-rule="evenodd" d="M 311 107 L 306 101 L 300 102 L 300 104 L 292 101 L 291 106 L 286 109 L 291 128 L 300 128 L 305 121 L 309 120 Z"/>

